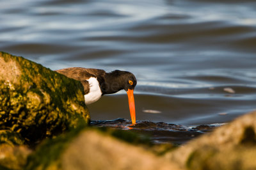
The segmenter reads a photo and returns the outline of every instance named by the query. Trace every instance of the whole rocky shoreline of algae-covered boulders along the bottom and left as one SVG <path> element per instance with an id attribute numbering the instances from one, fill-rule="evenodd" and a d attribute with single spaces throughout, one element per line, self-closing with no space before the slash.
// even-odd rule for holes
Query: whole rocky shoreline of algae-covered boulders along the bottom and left
<path id="1" fill-rule="evenodd" d="M 256 112 L 182 146 L 154 144 L 88 125 L 78 81 L 5 52 L 0 68 L 0 169 L 256 169 Z"/>

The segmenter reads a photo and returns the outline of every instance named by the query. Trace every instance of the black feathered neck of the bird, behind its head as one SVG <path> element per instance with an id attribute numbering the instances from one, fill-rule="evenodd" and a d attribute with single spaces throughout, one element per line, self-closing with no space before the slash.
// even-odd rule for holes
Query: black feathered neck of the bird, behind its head
<path id="1" fill-rule="evenodd" d="M 112 94 L 124 89 L 124 82 L 122 77 L 115 75 L 115 73 L 106 73 L 104 76 L 104 81 L 100 84 L 102 90 L 102 95 Z"/>

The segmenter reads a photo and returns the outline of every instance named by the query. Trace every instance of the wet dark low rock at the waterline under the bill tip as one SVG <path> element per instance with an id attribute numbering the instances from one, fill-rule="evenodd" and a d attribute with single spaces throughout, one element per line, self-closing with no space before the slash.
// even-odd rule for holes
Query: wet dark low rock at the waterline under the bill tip
<path id="1" fill-rule="evenodd" d="M 170 124 L 164 122 L 137 121 L 135 125 L 131 125 L 131 121 L 118 118 L 116 120 L 107 121 L 91 121 L 90 125 L 94 127 L 111 127 L 121 130 L 129 130 L 138 134 L 146 134 L 150 137 L 152 143 L 163 144 L 184 144 L 187 141 L 208 132 L 216 126 L 202 125 L 196 128 L 189 128 L 183 125 Z"/>

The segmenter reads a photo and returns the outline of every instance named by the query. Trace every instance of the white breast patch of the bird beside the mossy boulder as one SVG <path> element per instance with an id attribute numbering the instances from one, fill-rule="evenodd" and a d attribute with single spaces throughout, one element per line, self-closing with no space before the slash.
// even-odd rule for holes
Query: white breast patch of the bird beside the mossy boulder
<path id="1" fill-rule="evenodd" d="M 100 91 L 100 84 L 97 78 L 91 77 L 87 81 L 89 82 L 90 91 L 84 95 L 84 102 L 85 104 L 92 104 L 100 99 L 102 92 Z"/>

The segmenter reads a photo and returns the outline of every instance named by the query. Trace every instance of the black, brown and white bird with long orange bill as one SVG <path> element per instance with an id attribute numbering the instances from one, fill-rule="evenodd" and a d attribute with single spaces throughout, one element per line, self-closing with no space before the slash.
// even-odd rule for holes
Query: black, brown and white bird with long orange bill
<path id="1" fill-rule="evenodd" d="M 133 91 L 137 81 L 133 73 L 120 70 L 106 72 L 101 69 L 82 67 L 63 68 L 55 71 L 83 84 L 86 105 L 96 102 L 103 95 L 124 89 L 128 96 L 132 125 L 136 124 Z"/>

